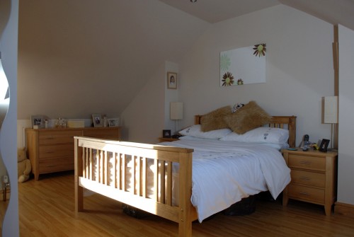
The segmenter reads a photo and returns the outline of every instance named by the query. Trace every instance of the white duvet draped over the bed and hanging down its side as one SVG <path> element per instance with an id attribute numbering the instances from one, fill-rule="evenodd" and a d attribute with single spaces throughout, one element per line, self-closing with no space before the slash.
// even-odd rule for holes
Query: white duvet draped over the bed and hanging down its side
<path id="1" fill-rule="evenodd" d="M 276 199 L 290 183 L 284 158 L 269 146 L 207 139 L 160 144 L 194 149 L 191 202 L 200 222 L 261 191 Z"/>

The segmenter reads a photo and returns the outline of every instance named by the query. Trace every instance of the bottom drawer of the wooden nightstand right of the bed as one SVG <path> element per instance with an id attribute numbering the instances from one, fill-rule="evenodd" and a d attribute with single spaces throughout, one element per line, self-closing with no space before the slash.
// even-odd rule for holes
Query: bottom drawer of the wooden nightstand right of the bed
<path id="1" fill-rule="evenodd" d="M 324 189 L 294 185 L 287 186 L 287 195 L 297 200 L 311 201 L 324 204 Z"/>

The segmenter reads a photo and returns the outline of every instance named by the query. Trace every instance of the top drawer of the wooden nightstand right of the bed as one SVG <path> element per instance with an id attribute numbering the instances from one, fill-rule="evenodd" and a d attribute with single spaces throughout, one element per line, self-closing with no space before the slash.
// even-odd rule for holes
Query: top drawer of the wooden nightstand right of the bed
<path id="1" fill-rule="evenodd" d="M 302 156 L 297 154 L 289 154 L 287 164 L 290 168 L 305 168 L 310 170 L 326 170 L 326 159 L 316 156 Z"/>

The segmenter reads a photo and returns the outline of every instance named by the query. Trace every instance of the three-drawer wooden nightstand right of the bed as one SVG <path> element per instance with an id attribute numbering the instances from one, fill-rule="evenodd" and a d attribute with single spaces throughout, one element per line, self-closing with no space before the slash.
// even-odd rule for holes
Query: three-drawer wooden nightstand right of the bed
<path id="1" fill-rule="evenodd" d="M 282 150 L 291 169 L 291 182 L 282 192 L 282 205 L 289 199 L 324 205 L 327 216 L 336 201 L 337 157 L 333 151 Z"/>

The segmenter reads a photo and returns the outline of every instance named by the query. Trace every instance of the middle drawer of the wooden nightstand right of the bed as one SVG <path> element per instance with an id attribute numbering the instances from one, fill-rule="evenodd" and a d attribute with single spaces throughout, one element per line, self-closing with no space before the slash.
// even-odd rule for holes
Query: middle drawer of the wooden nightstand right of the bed
<path id="1" fill-rule="evenodd" d="M 291 182 L 316 187 L 325 187 L 326 175 L 302 170 L 291 170 Z"/>

